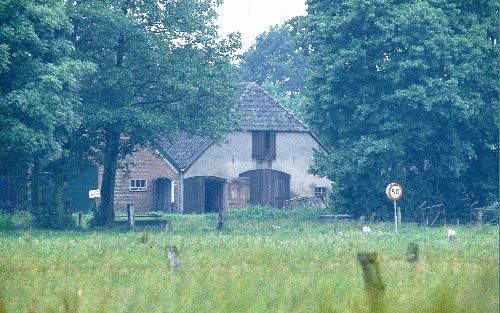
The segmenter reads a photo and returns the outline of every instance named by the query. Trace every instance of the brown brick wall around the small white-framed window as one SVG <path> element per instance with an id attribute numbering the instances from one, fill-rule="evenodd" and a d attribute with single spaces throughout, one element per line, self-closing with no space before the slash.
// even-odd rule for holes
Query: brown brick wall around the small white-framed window
<path id="1" fill-rule="evenodd" d="M 126 212 L 127 203 L 134 203 L 136 212 L 154 210 L 154 180 L 156 178 L 177 180 L 175 169 L 153 149 L 144 148 L 128 156 L 121 169 L 116 171 L 115 211 Z M 146 179 L 147 191 L 129 191 L 130 179 Z M 99 169 L 99 187 L 102 181 L 102 168 Z M 178 199 L 175 195 L 175 199 Z"/>

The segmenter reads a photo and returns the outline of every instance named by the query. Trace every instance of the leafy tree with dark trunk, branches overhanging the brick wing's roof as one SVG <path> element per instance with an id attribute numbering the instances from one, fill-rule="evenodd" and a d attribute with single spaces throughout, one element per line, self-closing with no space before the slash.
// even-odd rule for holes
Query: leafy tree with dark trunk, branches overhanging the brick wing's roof
<path id="1" fill-rule="evenodd" d="M 102 139 L 96 225 L 114 222 L 119 160 L 159 132 L 220 137 L 227 130 L 239 38 L 219 40 L 212 0 L 68 2 L 79 57 L 97 65 L 85 82 L 83 114 Z"/>

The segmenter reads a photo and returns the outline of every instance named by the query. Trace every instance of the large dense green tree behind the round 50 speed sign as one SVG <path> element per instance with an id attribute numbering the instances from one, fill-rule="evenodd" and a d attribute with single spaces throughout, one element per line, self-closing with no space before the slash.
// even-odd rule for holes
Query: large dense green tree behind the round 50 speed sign
<path id="1" fill-rule="evenodd" d="M 308 118 L 331 147 L 311 171 L 335 182 L 337 209 L 387 207 L 392 181 L 406 187 L 405 207 L 444 203 L 455 216 L 497 197 L 498 4 L 480 15 L 459 3 L 310 0 L 294 25 L 310 65 Z M 487 186 L 469 182 L 476 167 Z"/>

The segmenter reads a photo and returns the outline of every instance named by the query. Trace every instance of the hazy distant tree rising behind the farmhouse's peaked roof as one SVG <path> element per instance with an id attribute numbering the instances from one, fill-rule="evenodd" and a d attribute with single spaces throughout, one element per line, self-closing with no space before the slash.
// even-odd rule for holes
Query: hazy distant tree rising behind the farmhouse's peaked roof
<path id="1" fill-rule="evenodd" d="M 241 79 L 262 85 L 281 104 L 302 117 L 307 65 L 289 28 L 288 23 L 276 25 L 257 36 L 255 44 L 243 54 Z"/>

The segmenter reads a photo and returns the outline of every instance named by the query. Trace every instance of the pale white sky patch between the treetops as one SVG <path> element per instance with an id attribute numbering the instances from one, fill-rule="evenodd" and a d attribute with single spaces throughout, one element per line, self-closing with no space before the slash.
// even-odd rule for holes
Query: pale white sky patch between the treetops
<path id="1" fill-rule="evenodd" d="M 306 14 L 306 0 L 224 0 L 217 8 L 221 35 L 241 33 L 243 51 L 269 27 Z"/>

